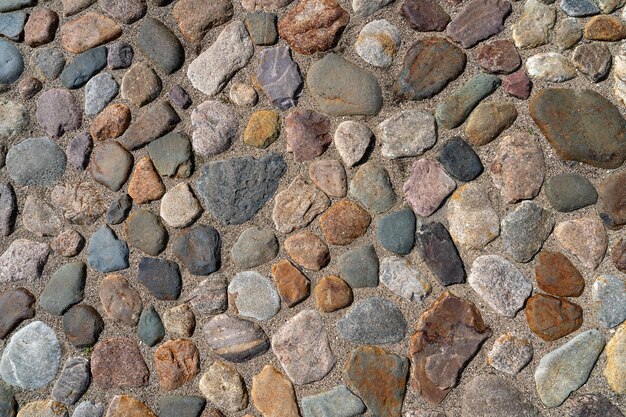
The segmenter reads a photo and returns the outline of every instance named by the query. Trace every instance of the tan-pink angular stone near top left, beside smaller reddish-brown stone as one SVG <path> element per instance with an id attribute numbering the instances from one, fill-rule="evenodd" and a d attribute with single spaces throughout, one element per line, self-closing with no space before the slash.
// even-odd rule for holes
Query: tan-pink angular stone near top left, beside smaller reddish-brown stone
<path id="1" fill-rule="evenodd" d="M 104 15 L 88 12 L 61 26 L 61 45 L 79 54 L 107 43 L 122 34 L 122 28 Z"/>

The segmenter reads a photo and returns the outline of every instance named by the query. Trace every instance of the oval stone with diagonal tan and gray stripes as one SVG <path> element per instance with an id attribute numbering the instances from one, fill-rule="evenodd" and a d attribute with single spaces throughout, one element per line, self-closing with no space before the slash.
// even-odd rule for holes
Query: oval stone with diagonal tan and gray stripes
<path id="1" fill-rule="evenodd" d="M 270 341 L 258 324 L 226 314 L 212 317 L 203 332 L 209 348 L 230 362 L 246 362 L 270 348 Z"/>

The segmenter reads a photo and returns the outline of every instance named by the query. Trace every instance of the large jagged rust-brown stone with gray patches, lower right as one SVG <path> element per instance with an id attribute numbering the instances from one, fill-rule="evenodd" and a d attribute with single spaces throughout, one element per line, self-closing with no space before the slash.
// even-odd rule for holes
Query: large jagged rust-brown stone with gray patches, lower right
<path id="1" fill-rule="evenodd" d="M 491 336 L 474 304 L 444 292 L 420 316 L 411 336 L 411 382 L 438 404 L 457 384 L 466 363 Z"/>

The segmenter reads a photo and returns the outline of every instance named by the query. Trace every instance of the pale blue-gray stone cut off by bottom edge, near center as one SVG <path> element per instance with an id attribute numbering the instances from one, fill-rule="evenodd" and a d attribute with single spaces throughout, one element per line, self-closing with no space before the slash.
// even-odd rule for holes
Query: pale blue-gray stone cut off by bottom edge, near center
<path id="1" fill-rule="evenodd" d="M 365 412 L 365 404 L 345 385 L 305 397 L 301 401 L 303 417 L 357 417 Z"/>

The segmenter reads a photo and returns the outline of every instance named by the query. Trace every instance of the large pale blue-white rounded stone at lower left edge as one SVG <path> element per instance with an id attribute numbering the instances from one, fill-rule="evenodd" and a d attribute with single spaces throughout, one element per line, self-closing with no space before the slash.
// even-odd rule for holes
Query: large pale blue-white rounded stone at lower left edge
<path id="1" fill-rule="evenodd" d="M 54 330 L 40 321 L 21 328 L 4 348 L 0 377 L 10 385 L 38 389 L 48 385 L 61 363 L 61 345 Z"/>

